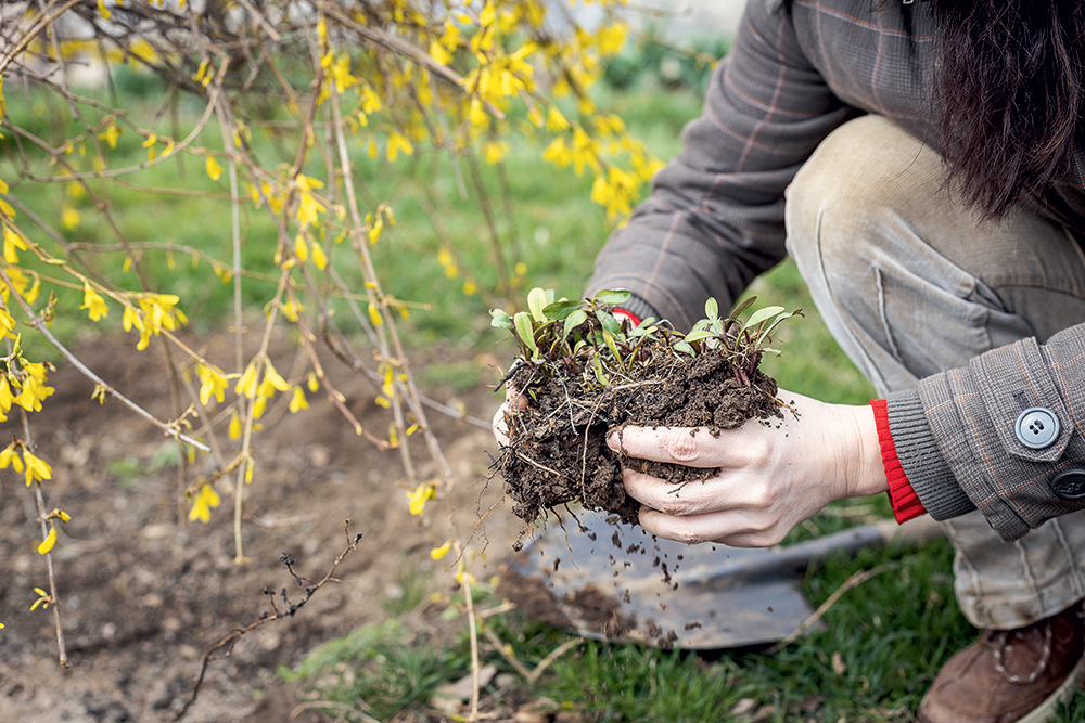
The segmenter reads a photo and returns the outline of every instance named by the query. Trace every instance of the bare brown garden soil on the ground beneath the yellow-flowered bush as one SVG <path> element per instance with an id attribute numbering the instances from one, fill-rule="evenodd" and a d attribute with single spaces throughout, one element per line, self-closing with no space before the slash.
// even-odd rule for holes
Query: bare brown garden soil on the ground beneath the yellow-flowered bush
<path id="1" fill-rule="evenodd" d="M 224 366 L 232 359 L 230 338 L 215 337 L 207 356 Z M 279 343 L 278 369 L 290 369 L 296 348 Z M 124 393 L 166 418 L 169 392 L 161 359 L 152 348 L 136 352 L 131 337 L 103 338 L 78 356 Z M 459 353 L 457 363 L 481 367 L 477 384 L 460 392 L 431 388 L 434 398 L 462 403 L 468 414 L 488 419 L 498 396 L 493 360 Z M 431 359 L 449 363 L 434 350 Z M 424 362 L 424 360 L 423 360 Z M 374 390 L 358 376 L 326 362 L 358 419 L 381 435 L 388 414 L 373 403 Z M 416 366 L 419 362 L 416 360 Z M 0 721 L 4 723 L 157 723 L 173 718 L 188 699 L 204 651 L 231 630 L 269 610 L 265 588 L 302 592 L 279 561 L 286 553 L 295 570 L 319 578 L 345 546 L 344 521 L 363 534 L 336 577 L 289 620 L 242 637 L 228 658 L 212 663 L 187 721 L 314 722 L 332 720 L 298 710 L 305 690 L 284 684 L 275 670 L 293 666 L 320 643 L 383 620 L 382 601 L 403 595 L 405 570 L 426 581 L 426 595 L 448 593 L 447 560 L 426 552 L 451 537 L 470 533 L 478 511 L 500 500 L 489 482 L 488 430 L 431 412 L 431 423 L 451 466 L 455 486 L 431 502 L 433 529 L 407 511 L 406 478 L 396 452 L 381 452 L 356 437 L 339 412 L 319 395 L 312 409 L 285 413 L 285 400 L 269 409 L 267 429 L 255 437 L 256 476 L 246 489 L 245 554 L 233 564 L 233 509 L 228 486 L 210 522 L 178 521 L 176 447 L 120 404 L 100 406 L 93 385 L 61 365 L 50 383 L 56 393 L 31 415 L 40 455 L 53 467 L 46 507 L 73 519 L 54 550 L 62 621 L 72 666 L 56 663 L 52 610 L 29 608 L 35 588 L 48 588 L 34 498 L 13 472 L 0 472 Z M 22 437 L 17 415 L 0 425 L 4 439 Z M 419 475 L 434 476 L 417 437 Z M 190 475 L 191 480 L 191 475 Z M 477 564 L 478 579 L 496 572 L 500 558 L 523 530 L 499 505 L 481 530 L 490 561 Z M 477 541 L 472 543 L 477 545 Z M 405 618 L 408 632 L 456 634 L 439 605 L 423 602 Z M 292 716 L 292 712 L 296 716 Z"/>

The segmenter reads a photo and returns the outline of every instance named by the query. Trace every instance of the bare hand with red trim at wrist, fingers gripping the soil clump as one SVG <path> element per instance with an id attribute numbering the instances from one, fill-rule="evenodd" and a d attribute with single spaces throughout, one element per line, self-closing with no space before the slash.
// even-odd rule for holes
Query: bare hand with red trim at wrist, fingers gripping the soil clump
<path id="1" fill-rule="evenodd" d="M 826 404 L 780 391 L 797 418 L 751 419 L 713 437 L 706 429 L 625 427 L 607 440 L 641 460 L 716 468 L 674 485 L 626 468 L 640 524 L 679 542 L 767 547 L 826 504 L 889 489 L 869 406 Z M 794 401 L 790 401 L 790 400 Z"/>

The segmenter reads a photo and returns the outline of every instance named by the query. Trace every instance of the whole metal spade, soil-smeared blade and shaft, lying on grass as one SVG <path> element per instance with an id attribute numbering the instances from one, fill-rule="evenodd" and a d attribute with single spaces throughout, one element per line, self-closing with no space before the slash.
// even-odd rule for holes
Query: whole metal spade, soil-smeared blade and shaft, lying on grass
<path id="1" fill-rule="evenodd" d="M 686 545 L 577 512 L 506 560 L 498 593 L 528 615 L 597 640 L 716 649 L 790 635 L 813 612 L 799 590 L 810 561 L 942 534 L 929 517 L 885 520 L 787 547 Z"/>

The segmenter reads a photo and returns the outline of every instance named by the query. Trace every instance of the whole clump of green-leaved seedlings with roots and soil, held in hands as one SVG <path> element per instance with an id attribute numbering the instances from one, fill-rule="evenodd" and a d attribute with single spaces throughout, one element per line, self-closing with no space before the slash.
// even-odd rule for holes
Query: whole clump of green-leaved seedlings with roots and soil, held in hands
<path id="1" fill-rule="evenodd" d="M 627 425 L 705 427 L 712 434 L 748 419 L 781 416 L 776 382 L 760 370 L 762 356 L 784 319 L 801 315 L 765 307 L 742 321 L 755 300 L 720 318 L 715 299 L 688 334 L 666 322 L 633 324 L 614 310 L 628 292 L 600 292 L 580 301 L 554 300 L 533 289 L 527 311 L 494 310 L 493 325 L 520 347 L 502 382 L 522 397 L 507 405 L 508 444 L 496 468 L 526 522 L 579 502 L 636 524 L 639 503 L 625 493 L 622 463 L 607 446 Z M 676 485 L 705 479 L 714 469 L 626 459 L 625 464 Z"/>

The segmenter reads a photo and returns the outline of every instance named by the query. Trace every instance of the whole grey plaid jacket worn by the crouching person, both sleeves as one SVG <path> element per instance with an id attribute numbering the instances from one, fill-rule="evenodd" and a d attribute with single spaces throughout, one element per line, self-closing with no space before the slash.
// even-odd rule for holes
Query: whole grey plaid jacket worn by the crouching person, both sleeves
<path id="1" fill-rule="evenodd" d="M 682 153 L 610 237 L 588 293 L 628 289 L 630 311 L 688 328 L 709 297 L 727 307 L 783 258 L 783 191 L 834 128 L 877 113 L 936 147 L 932 30 L 922 2 L 749 0 Z M 1031 203 L 1081 231 L 1085 177 L 1075 160 L 1074 178 Z M 1013 435 L 1030 406 L 1062 423 L 1044 450 Z M 1074 496 L 1078 487 L 1085 496 L 1085 473 L 1078 487 L 1063 477 L 1060 494 L 1051 485 L 1060 472 L 1085 468 L 1085 324 L 923 379 L 889 409 L 902 465 L 935 518 L 979 508 L 1008 540 L 1085 507 Z"/>

